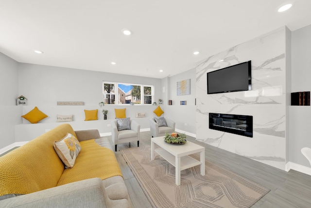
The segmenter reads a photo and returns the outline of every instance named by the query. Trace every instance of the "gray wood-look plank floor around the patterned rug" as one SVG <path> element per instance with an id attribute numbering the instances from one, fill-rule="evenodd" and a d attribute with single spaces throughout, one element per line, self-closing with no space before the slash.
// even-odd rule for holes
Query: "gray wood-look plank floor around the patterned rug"
<path id="1" fill-rule="evenodd" d="M 150 132 L 140 132 L 139 146 L 150 145 L 150 138 Z M 205 147 L 207 161 L 271 189 L 252 208 L 311 208 L 310 175 L 295 170 L 289 172 L 279 170 L 241 155 L 207 145 L 191 136 L 187 136 L 187 140 Z M 137 142 L 132 142 L 131 146 L 128 143 L 118 145 L 116 157 L 121 166 L 122 174 L 125 176 L 125 184 L 129 193 L 135 192 L 134 195 L 130 193 L 134 207 L 149 208 L 151 207 L 150 203 L 148 202 L 148 205 L 145 201 L 147 197 L 143 194 L 135 177 L 132 176 L 133 174 L 130 173 L 131 170 L 126 167 L 127 164 L 120 153 L 120 149 L 136 146 Z"/>

